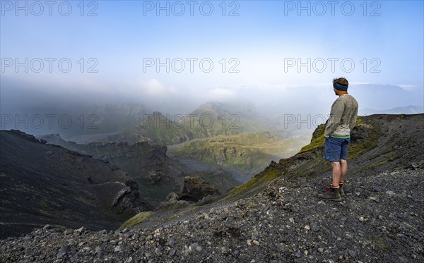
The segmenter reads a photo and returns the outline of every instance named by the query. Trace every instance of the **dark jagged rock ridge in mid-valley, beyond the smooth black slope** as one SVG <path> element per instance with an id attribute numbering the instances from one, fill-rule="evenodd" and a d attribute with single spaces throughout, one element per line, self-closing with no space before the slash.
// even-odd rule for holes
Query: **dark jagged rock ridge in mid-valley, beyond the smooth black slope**
<path id="1" fill-rule="evenodd" d="M 220 192 L 226 192 L 237 185 L 230 173 L 211 169 L 195 172 L 179 161 L 167 157 L 167 147 L 151 145 L 148 142 L 91 142 L 86 145 L 67 142 L 59 135 L 40 137 L 47 143 L 60 145 L 67 149 L 89 154 L 93 158 L 102 159 L 126 171 L 139 185 L 140 196 L 153 206 L 166 200 L 170 192 L 182 190 L 184 176 L 199 176 L 213 185 Z"/>

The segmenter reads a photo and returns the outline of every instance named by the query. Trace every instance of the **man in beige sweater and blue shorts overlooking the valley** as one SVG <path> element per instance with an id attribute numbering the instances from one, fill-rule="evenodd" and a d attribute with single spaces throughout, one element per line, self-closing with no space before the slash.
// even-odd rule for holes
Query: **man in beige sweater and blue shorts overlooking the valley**
<path id="1" fill-rule="evenodd" d="M 349 82 L 346 78 L 333 80 L 334 93 L 338 96 L 331 106 L 329 119 L 326 121 L 325 160 L 330 161 L 333 169 L 333 183 L 319 194 L 322 200 L 341 201 L 344 195 L 343 183 L 348 171 L 348 144 L 351 142 L 351 130 L 358 116 L 358 102 L 348 94 Z"/>

